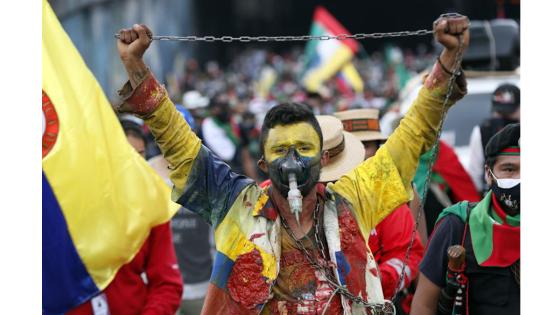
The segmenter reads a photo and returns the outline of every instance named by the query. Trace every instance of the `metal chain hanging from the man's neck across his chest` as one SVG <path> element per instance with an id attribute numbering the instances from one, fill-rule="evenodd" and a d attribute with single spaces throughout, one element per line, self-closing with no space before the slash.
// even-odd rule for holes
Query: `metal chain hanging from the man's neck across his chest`
<path id="1" fill-rule="evenodd" d="M 313 226 L 315 228 L 314 236 L 317 244 L 316 246 L 320 247 L 316 249 L 319 251 L 322 258 L 325 261 L 329 262 L 330 259 L 326 254 L 324 244 L 320 238 L 320 232 L 319 232 L 320 224 L 319 224 L 319 220 L 317 219 L 318 212 L 319 212 L 319 202 L 317 202 L 317 206 L 313 211 Z M 320 261 L 316 260 L 315 257 L 311 253 L 309 253 L 305 245 L 303 245 L 302 242 L 295 237 L 292 229 L 288 226 L 288 223 L 286 222 L 284 217 L 282 217 L 282 215 L 280 215 L 280 222 L 282 223 L 282 226 L 284 227 L 284 229 L 286 230 L 290 238 L 294 241 L 294 243 L 296 244 L 300 252 L 303 253 L 304 257 L 307 259 L 311 267 L 313 267 L 315 270 L 319 272 L 322 272 L 325 275 L 328 284 L 331 286 L 331 288 L 335 290 L 333 294 L 336 294 L 336 292 L 338 291 L 340 292 L 340 294 L 344 295 L 353 303 L 363 305 L 365 307 L 372 309 L 374 314 L 380 314 L 380 315 L 396 314 L 395 306 L 391 301 L 385 301 L 385 303 L 369 303 L 365 301 L 362 297 L 353 295 L 345 286 L 340 285 L 336 279 L 333 279 L 333 275 L 332 275 L 333 270 L 331 269 L 331 267 L 328 265 L 325 266 L 321 264 Z M 307 234 L 305 234 L 304 237 L 307 238 L 311 242 L 311 244 L 313 244 L 313 241 L 309 238 L 309 236 L 307 236 Z M 326 307 L 328 307 L 328 304 Z"/>

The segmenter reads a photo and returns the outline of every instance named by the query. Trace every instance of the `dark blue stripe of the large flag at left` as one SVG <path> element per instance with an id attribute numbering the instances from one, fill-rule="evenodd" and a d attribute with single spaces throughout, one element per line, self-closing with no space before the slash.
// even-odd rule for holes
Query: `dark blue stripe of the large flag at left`
<path id="1" fill-rule="evenodd" d="M 43 312 L 63 313 L 99 293 L 43 173 Z"/>

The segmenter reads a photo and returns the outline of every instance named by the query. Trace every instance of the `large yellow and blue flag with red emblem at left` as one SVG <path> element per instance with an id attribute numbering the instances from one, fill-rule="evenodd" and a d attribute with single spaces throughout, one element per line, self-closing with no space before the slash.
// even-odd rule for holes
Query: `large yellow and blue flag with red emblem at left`
<path id="1" fill-rule="evenodd" d="M 45 0 L 42 32 L 42 303 L 57 314 L 103 290 L 178 206 Z"/>

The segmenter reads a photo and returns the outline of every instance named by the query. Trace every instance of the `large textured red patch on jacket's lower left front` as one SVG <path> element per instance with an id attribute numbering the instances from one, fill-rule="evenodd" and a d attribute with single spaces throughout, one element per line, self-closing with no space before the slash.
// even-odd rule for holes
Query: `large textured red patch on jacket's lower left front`
<path id="1" fill-rule="evenodd" d="M 237 257 L 227 288 L 231 298 L 243 307 L 252 309 L 268 299 L 269 285 L 262 275 L 263 261 L 254 249 Z"/>

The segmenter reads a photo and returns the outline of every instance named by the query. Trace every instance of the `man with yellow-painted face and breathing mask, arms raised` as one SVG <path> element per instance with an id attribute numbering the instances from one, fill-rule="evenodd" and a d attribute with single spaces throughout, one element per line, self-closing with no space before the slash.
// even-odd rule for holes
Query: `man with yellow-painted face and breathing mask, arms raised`
<path id="1" fill-rule="evenodd" d="M 217 254 L 203 314 L 367 314 L 365 303 L 383 303 L 367 237 L 412 196 L 418 157 L 436 140 L 449 69 L 468 45 L 468 25 L 463 16 L 434 23 L 445 48 L 415 105 L 374 157 L 335 184 L 317 184 L 328 153 L 313 112 L 297 103 L 271 109 L 259 162 L 272 179 L 268 189 L 233 173 L 189 129 L 142 60 L 150 30 L 134 25 L 120 31 L 117 46 L 129 82 L 119 91 L 118 110 L 150 127 L 170 163 L 173 200 L 215 228 Z M 452 88 L 450 103 L 466 93 L 462 75 Z M 291 242 L 282 242 L 282 235 Z M 287 246 L 297 248 L 290 251 L 295 254 L 288 255 Z"/>

